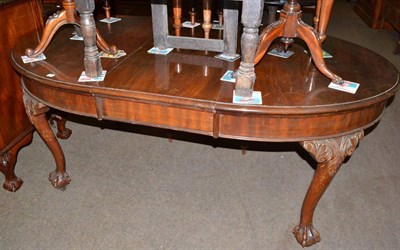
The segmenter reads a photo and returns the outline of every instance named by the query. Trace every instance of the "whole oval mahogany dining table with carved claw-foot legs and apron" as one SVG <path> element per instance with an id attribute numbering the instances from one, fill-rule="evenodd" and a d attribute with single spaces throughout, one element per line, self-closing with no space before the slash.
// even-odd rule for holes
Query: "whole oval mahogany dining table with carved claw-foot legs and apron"
<path id="1" fill-rule="evenodd" d="M 98 27 L 107 29 L 106 24 Z M 25 101 L 28 114 L 56 159 L 53 185 L 65 188 L 70 179 L 60 145 L 44 122 L 49 107 L 215 138 L 300 142 L 318 166 L 294 233 L 303 246 L 318 242 L 312 222 L 318 201 L 344 158 L 355 150 L 364 129 L 379 121 L 388 99 L 398 90 L 394 66 L 368 49 L 329 37 L 324 46 L 334 55 L 327 60 L 329 66 L 361 84 L 356 94 L 339 92 L 328 88 L 330 80 L 301 45 L 293 44 L 290 61 L 266 55 L 267 60 L 255 68 L 259 83 L 255 90 L 261 91 L 263 104 L 239 105 L 232 103 L 234 84 L 220 81 L 226 70 L 239 67 L 238 61 L 225 62 L 212 52 L 204 55 L 183 49 L 167 56 L 149 54 L 152 35 L 143 30 L 150 29 L 151 18 L 127 17 L 113 26 L 113 33 L 106 33 L 106 39 L 118 42 L 127 56 L 103 60 L 109 72 L 103 82 L 77 81 L 83 53 L 68 39 L 72 29 L 57 34 L 44 62 L 21 62 L 29 40 L 21 41 L 12 52 L 12 64 L 23 75 L 26 100 L 31 100 Z M 46 76 L 49 69 L 57 69 L 53 78 Z"/>

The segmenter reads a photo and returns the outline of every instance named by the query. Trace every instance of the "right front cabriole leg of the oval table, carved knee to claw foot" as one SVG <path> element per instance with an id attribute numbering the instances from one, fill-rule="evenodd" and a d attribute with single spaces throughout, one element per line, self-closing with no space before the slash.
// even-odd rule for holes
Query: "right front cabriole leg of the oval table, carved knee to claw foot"
<path id="1" fill-rule="evenodd" d="M 300 224 L 293 229 L 297 241 L 303 246 L 311 246 L 321 240 L 313 227 L 313 215 L 318 201 L 339 170 L 343 160 L 356 149 L 364 131 L 332 139 L 304 141 L 300 144 L 318 162 L 314 177 L 304 198 Z"/>

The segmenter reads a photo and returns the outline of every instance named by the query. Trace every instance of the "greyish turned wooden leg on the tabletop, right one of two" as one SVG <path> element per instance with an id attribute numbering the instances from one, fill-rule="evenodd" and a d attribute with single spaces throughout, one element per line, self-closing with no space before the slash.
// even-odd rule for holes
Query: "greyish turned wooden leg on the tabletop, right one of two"
<path id="1" fill-rule="evenodd" d="M 235 93 L 238 96 L 250 97 L 253 93 L 256 74 L 254 58 L 259 43 L 258 27 L 261 25 L 264 0 L 243 1 L 241 38 L 242 60 L 237 72 Z"/>

